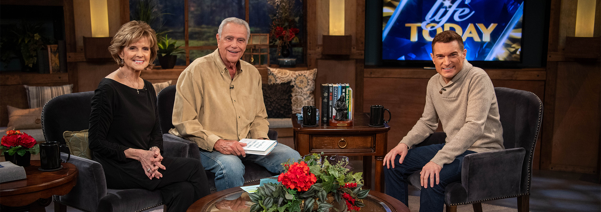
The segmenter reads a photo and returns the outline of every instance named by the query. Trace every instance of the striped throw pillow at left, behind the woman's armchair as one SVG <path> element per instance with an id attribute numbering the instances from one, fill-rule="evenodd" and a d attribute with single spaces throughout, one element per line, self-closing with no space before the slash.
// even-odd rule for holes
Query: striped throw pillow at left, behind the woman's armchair
<path id="1" fill-rule="evenodd" d="M 64 86 L 25 86 L 29 108 L 44 107 L 46 102 L 63 94 L 71 93 L 73 84 Z"/>

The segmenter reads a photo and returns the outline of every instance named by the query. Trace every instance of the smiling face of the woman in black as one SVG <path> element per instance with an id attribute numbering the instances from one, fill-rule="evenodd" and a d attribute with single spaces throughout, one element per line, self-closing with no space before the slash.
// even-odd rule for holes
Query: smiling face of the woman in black
<path id="1" fill-rule="evenodd" d="M 150 60 L 150 42 L 142 38 L 136 43 L 123 47 L 119 56 L 123 59 L 123 68 L 142 71 Z"/>

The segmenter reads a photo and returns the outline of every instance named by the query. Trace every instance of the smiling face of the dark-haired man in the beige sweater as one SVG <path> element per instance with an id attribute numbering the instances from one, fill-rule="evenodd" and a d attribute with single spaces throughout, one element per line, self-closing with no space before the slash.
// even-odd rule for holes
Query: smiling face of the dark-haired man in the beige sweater
<path id="1" fill-rule="evenodd" d="M 463 68 L 463 59 L 465 59 L 468 50 L 461 49 L 457 41 L 449 43 L 435 43 L 432 47 L 432 62 L 436 66 L 436 72 L 444 77 L 446 83 L 451 81 Z"/>

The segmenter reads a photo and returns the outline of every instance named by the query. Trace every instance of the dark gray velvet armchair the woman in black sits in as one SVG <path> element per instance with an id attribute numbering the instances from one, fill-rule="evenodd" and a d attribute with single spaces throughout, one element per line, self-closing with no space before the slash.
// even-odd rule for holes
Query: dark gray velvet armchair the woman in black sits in
<path id="1" fill-rule="evenodd" d="M 90 122 L 91 98 L 94 92 L 70 93 L 51 99 L 42 110 L 42 129 L 46 142 L 58 141 L 65 144 L 64 131 L 88 129 Z M 188 156 L 188 145 L 164 141 L 163 155 Z M 62 153 L 66 158 L 66 153 Z M 54 196 L 55 208 L 66 211 L 67 205 L 82 211 L 143 211 L 162 205 L 159 190 L 108 189 L 105 172 L 100 163 L 78 156 L 69 160 L 77 166 L 77 184 L 64 196 Z"/>

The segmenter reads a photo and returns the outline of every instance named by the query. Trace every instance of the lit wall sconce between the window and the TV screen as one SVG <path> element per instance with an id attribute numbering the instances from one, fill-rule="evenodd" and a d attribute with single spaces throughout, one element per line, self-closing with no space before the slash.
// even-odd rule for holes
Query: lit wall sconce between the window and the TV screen
<path id="1" fill-rule="evenodd" d="M 344 35 L 344 1 L 329 0 L 329 35 L 323 35 L 322 54 L 350 55 L 350 35 Z"/>

